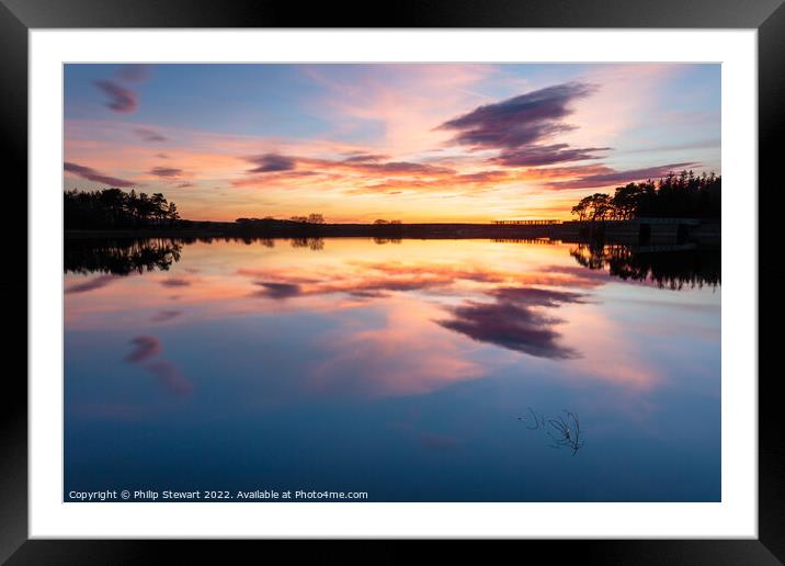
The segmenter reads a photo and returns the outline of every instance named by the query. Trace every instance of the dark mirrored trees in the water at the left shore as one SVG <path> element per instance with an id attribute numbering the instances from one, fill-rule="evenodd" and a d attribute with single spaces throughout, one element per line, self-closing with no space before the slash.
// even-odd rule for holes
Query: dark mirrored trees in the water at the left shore
<path id="1" fill-rule="evenodd" d="M 112 273 L 167 271 L 180 261 L 182 244 L 170 238 L 145 240 L 67 240 L 65 271 L 71 273 Z"/>

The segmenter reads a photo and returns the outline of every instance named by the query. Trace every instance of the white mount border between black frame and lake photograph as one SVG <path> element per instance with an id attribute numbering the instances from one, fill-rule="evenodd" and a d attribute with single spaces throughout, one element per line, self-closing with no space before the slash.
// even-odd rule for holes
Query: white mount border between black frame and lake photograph
<path id="1" fill-rule="evenodd" d="M 31 31 L 30 536 L 756 537 L 756 43 L 748 30 Z M 61 502 L 61 72 L 95 60 L 721 61 L 723 502 Z"/>

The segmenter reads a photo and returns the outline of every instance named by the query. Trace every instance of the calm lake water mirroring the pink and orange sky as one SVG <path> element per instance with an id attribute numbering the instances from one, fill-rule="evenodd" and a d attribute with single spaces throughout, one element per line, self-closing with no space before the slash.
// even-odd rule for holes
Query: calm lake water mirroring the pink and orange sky
<path id="1" fill-rule="evenodd" d="M 66 244 L 71 490 L 720 499 L 719 252 Z"/>

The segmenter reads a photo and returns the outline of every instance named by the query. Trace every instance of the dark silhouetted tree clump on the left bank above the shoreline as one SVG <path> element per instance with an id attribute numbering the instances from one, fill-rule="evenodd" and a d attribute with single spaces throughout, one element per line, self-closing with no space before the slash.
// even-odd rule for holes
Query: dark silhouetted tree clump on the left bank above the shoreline
<path id="1" fill-rule="evenodd" d="M 65 191 L 64 216 L 66 229 L 171 226 L 180 219 L 178 206 L 162 193 L 120 189 Z"/>

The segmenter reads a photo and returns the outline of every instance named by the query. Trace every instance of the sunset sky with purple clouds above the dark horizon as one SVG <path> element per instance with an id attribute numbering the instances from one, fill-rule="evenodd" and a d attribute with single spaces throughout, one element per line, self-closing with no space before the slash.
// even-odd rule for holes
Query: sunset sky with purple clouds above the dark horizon
<path id="1" fill-rule="evenodd" d="M 66 65 L 64 169 L 191 219 L 568 218 L 720 173 L 720 66 Z"/>

